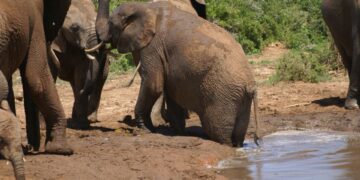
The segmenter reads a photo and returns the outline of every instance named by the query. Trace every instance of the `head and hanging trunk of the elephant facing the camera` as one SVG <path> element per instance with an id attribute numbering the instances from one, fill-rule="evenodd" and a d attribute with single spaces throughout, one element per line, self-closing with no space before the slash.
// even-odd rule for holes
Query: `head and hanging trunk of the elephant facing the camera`
<path id="1" fill-rule="evenodd" d="M 51 45 L 51 49 L 60 53 L 66 51 L 83 52 L 87 60 L 90 61 L 86 81 L 82 89 L 84 95 L 89 95 L 94 84 L 99 78 L 101 67 L 104 66 L 106 59 L 105 52 L 86 51 L 98 45 L 100 42 L 97 38 L 95 30 L 96 11 L 93 3 L 83 0 L 72 0 L 69 11 L 66 15 L 63 26 L 61 27 L 55 43 Z M 71 48 L 71 50 L 69 50 Z M 70 53 L 71 54 L 71 53 Z M 51 52 L 52 60 L 59 67 L 59 60 L 54 52 Z"/>

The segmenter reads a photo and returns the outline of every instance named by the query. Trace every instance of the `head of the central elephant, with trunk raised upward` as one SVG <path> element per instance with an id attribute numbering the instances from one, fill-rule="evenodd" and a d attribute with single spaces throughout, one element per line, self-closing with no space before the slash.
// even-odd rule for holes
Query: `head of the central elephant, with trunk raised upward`
<path id="1" fill-rule="evenodd" d="M 156 20 L 156 13 L 141 3 L 122 5 L 109 19 L 109 0 L 100 0 L 96 30 L 101 40 L 111 43 L 120 53 L 133 52 L 151 42 Z"/>

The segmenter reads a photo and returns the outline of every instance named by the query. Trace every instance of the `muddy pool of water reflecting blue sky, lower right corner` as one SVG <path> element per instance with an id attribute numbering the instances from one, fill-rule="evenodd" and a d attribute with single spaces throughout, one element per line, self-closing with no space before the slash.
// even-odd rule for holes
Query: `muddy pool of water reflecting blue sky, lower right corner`
<path id="1" fill-rule="evenodd" d="M 230 179 L 360 179 L 360 135 L 283 131 L 252 142 L 218 164 Z"/>

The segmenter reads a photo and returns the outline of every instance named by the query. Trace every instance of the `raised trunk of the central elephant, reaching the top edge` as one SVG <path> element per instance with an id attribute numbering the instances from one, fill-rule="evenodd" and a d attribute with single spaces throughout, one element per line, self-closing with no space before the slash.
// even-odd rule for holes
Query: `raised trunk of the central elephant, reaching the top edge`
<path id="1" fill-rule="evenodd" d="M 109 0 L 99 0 L 99 11 L 96 17 L 96 32 L 99 38 L 104 42 L 111 39 L 109 33 Z"/>

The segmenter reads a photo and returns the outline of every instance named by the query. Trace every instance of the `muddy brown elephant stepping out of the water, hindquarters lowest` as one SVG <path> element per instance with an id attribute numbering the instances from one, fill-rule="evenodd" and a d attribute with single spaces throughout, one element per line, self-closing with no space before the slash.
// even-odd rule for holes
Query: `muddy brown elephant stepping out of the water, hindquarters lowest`
<path id="1" fill-rule="evenodd" d="M 109 17 L 109 0 L 99 0 L 96 30 L 104 43 L 141 63 L 139 128 L 154 131 L 151 110 L 164 94 L 167 117 L 178 132 L 190 110 L 210 139 L 243 146 L 253 102 L 257 114 L 257 90 L 245 53 L 230 33 L 169 2 L 124 3 Z"/>

